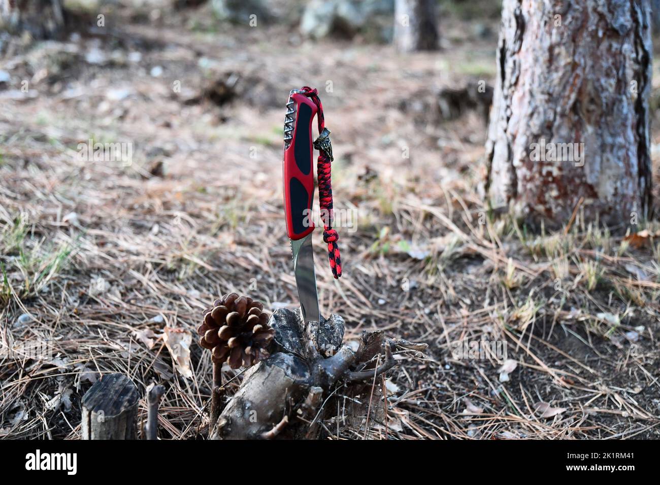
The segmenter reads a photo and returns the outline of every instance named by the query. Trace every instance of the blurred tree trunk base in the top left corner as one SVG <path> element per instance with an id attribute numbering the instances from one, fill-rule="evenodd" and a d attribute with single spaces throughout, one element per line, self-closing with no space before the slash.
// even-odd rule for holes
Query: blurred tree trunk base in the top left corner
<path id="1" fill-rule="evenodd" d="M 59 36 L 64 28 L 62 0 L 0 0 L 1 28 L 28 32 L 36 39 Z"/>

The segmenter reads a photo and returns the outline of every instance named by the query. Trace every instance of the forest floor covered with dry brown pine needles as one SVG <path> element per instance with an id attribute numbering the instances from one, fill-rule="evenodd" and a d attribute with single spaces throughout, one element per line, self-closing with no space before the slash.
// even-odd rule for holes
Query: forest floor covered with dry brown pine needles
<path id="1" fill-rule="evenodd" d="M 166 385 L 161 438 L 207 435 L 202 309 L 230 291 L 296 306 L 281 150 L 286 96 L 303 85 L 319 88 L 333 131 L 335 205 L 358 214 L 338 228 L 339 282 L 316 235 L 321 312 L 341 313 L 348 337 L 430 345 L 388 373 L 386 416 L 356 416 L 347 397 L 325 437 L 660 437 L 658 225 L 612 236 L 578 210 L 565 231 L 534 235 L 493 218 L 484 116 L 434 111 L 440 88 L 492 84 L 495 35 L 450 17 L 442 52 L 401 56 L 284 24 L 218 25 L 208 7 L 154 12 L 110 12 L 61 42 L 4 41 L 0 332 L 53 354 L 0 358 L 0 437 L 79 437 L 81 397 L 108 372 Z M 131 143 L 131 162 L 81 160 L 90 139 Z M 172 328 L 192 339 L 178 366 Z M 475 340 L 506 342 L 506 356 L 456 354 Z"/>

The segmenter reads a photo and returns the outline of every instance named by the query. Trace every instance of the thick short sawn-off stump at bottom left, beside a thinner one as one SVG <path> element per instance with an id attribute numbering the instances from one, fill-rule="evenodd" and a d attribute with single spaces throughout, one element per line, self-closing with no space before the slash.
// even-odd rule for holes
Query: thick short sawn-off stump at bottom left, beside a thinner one
<path id="1" fill-rule="evenodd" d="M 82 439 L 137 439 L 138 399 L 125 375 L 102 376 L 82 397 Z"/>

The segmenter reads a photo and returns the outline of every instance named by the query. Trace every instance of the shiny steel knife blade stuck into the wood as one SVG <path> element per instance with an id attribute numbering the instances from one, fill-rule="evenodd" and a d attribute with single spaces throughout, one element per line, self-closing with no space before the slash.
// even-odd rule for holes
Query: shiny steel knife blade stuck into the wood
<path id="1" fill-rule="evenodd" d="M 319 321 L 319 297 L 316 292 L 312 234 L 308 234 L 298 241 L 292 240 L 291 251 L 293 251 L 293 269 L 296 275 L 302 317 L 305 322 Z"/>

